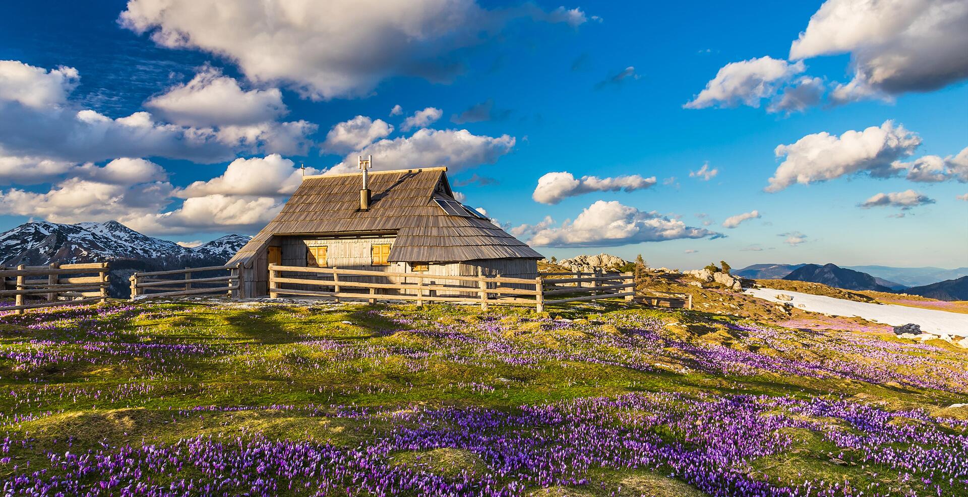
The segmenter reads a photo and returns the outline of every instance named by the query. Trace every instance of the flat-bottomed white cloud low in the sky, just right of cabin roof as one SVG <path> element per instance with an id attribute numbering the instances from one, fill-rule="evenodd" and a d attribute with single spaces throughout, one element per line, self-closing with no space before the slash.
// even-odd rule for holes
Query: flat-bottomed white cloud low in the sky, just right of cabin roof
<path id="1" fill-rule="evenodd" d="M 538 230 L 534 247 L 617 247 L 640 242 L 721 236 L 705 228 L 686 226 L 656 212 L 643 212 L 617 201 L 598 200 L 573 221 Z"/>

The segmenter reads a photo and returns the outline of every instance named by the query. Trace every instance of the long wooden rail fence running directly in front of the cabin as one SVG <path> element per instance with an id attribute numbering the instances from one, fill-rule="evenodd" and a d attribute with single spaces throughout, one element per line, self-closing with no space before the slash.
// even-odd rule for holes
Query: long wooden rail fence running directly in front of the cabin
<path id="1" fill-rule="evenodd" d="M 574 275 L 568 274 L 568 275 Z M 568 276 L 565 275 L 565 276 Z M 364 280 L 364 278 L 366 280 Z M 395 278 L 397 282 L 376 282 L 373 279 Z M 444 283 L 446 281 L 447 283 Z M 453 283 L 453 282 L 456 282 Z M 575 283 L 572 286 L 563 286 Z M 586 283 L 588 283 L 586 285 Z M 605 283 L 605 284 L 603 284 Z M 284 285 L 322 287 L 323 289 L 287 288 Z M 546 305 L 586 302 L 599 299 L 635 295 L 635 283 L 630 273 L 584 278 L 506 278 L 487 276 L 478 270 L 476 277 L 425 275 L 421 273 L 389 273 L 382 271 L 348 270 L 339 268 L 308 268 L 302 266 L 269 265 L 269 297 L 280 295 L 329 297 L 343 300 L 377 300 L 424 302 L 479 303 L 487 309 L 490 304 L 535 306 L 538 312 Z M 331 290 L 326 290 L 331 288 Z M 626 291 L 621 291 L 626 290 Z M 590 295 L 580 295 L 589 293 Z M 548 300 L 548 296 L 564 297 Z"/>

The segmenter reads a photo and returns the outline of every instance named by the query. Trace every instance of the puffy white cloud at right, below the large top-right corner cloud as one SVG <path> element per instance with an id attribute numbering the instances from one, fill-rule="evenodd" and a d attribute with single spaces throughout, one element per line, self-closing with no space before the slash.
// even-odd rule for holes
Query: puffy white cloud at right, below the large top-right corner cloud
<path id="1" fill-rule="evenodd" d="M 903 126 L 894 126 L 892 121 L 840 136 L 829 132 L 807 134 L 795 143 L 776 147 L 776 157 L 785 159 L 766 190 L 779 191 L 795 183 L 808 185 L 864 171 L 876 177 L 892 176 L 897 172 L 893 162 L 912 155 L 919 145 L 921 137 Z"/>

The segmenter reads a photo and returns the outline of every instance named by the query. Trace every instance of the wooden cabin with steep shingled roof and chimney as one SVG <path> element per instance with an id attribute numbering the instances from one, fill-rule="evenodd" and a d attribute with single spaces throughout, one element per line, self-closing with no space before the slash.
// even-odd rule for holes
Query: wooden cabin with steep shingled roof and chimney
<path id="1" fill-rule="evenodd" d="M 276 219 L 232 257 L 228 264 L 240 263 L 243 297 L 267 295 L 270 263 L 435 276 L 538 276 L 542 255 L 458 202 L 446 167 L 368 172 L 368 161 L 362 162 L 360 173 L 304 177 Z"/>

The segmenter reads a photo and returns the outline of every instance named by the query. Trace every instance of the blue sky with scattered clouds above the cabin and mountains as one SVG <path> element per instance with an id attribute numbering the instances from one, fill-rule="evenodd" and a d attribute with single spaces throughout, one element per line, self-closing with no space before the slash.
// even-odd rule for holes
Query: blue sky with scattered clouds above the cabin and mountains
<path id="1" fill-rule="evenodd" d="M 940 40 L 925 39 L 905 31 L 904 19 L 890 13 L 846 20 L 825 14 L 850 7 L 852 0 L 785 2 L 769 9 L 761 2 L 657 8 L 642 2 L 428 0 L 401 13 L 343 12 L 342 2 L 335 2 L 332 12 L 309 9 L 294 21 L 264 12 L 228 18 L 193 12 L 207 3 L 0 6 L 0 60 L 15 61 L 0 66 L 0 101 L 9 101 L 0 106 L 8 123 L 0 125 L 0 157 L 13 164 L 4 168 L 0 158 L 0 229 L 27 219 L 127 216 L 120 220 L 175 241 L 252 234 L 285 201 L 289 168 L 294 172 L 305 163 L 323 170 L 364 150 L 377 151 L 374 161 L 384 168 L 404 160 L 398 158 L 438 161 L 420 165 L 448 165 L 455 183 L 487 178 L 455 190 L 549 256 L 642 253 L 652 265 L 683 269 L 720 259 L 734 267 L 968 266 L 968 201 L 958 198 L 968 192 L 968 169 L 959 169 L 957 157 L 968 147 L 968 69 L 957 56 L 968 49 L 968 39 L 957 30 L 946 33 L 949 25 L 934 29 Z M 169 9 L 160 14 L 164 4 Z M 237 6 L 245 11 L 248 4 Z M 936 9 L 949 9 L 955 26 L 968 18 L 963 1 L 904 5 L 914 9 L 905 18 Z M 346 20 L 322 29 L 313 15 Z M 873 34 L 864 32 L 871 26 Z M 824 29 L 863 35 L 840 40 L 825 36 Z M 406 31 L 405 38 L 395 30 Z M 803 53 L 812 52 L 790 59 L 791 44 L 804 31 Z M 266 33 L 275 36 L 245 47 Z M 295 41 L 287 40 L 290 35 Z M 904 48 L 894 48 L 899 44 Z M 898 59 L 892 50 L 906 50 L 899 53 L 904 64 L 890 66 Z M 732 67 L 735 76 L 747 77 L 745 83 L 715 84 L 721 68 L 756 59 L 762 66 Z M 768 69 L 772 76 L 756 76 Z M 193 86 L 199 73 L 207 79 Z M 819 88 L 815 101 L 789 112 L 772 108 L 803 77 Z M 837 84 L 852 80 L 863 91 L 835 95 Z M 234 81 L 238 92 L 227 98 L 245 95 L 250 101 L 229 100 L 202 111 L 168 97 L 184 97 L 213 81 Z M 710 98 L 695 100 L 708 84 Z M 45 93 L 39 90 L 44 85 Z M 704 108 L 684 108 L 687 102 Z M 402 112 L 390 115 L 395 105 Z M 232 110 L 243 107 L 248 110 Z M 437 120 L 402 129 L 406 118 L 430 107 L 439 110 Z M 110 128 L 130 123 L 91 124 L 90 118 L 77 125 L 71 117 L 89 111 L 109 120 L 149 111 L 150 118 L 141 119 L 150 119 L 145 126 L 157 136 Z M 355 147 L 327 142 L 331 129 L 356 116 L 368 118 L 364 124 L 373 139 Z M 887 132 L 865 132 L 871 127 Z M 57 134 L 63 129 L 68 131 Z M 212 134 L 194 137 L 199 129 Z M 225 135 L 257 129 L 261 134 L 247 143 L 237 136 L 228 143 Z M 805 140 L 782 157 L 774 152 L 822 132 L 832 136 Z M 846 146 L 845 132 L 863 132 L 857 142 L 862 145 Z M 291 139 L 280 141 L 284 134 Z M 145 145 L 150 140 L 157 143 Z M 464 147 L 464 155 L 457 157 L 455 147 Z M 265 159 L 271 152 L 281 157 Z M 122 158 L 129 161 L 107 166 Z M 236 172 L 259 179 L 259 185 L 245 190 L 230 175 L 209 181 L 236 158 L 244 160 Z M 911 172 L 923 158 L 941 164 L 931 181 Z M 796 165 L 806 184 L 790 180 L 765 191 L 784 161 Z M 704 164 L 714 176 L 690 177 Z M 637 175 L 622 184 L 637 187 L 590 188 L 553 205 L 534 201 L 539 179 L 551 172 L 578 179 Z M 193 182 L 207 183 L 187 189 Z M 907 190 L 914 191 L 900 194 Z M 597 201 L 618 203 L 592 208 Z M 864 202 L 868 207 L 861 207 Z M 723 225 L 754 211 L 759 217 Z M 552 221 L 540 229 L 523 226 L 546 217 Z M 596 222 L 600 229 L 591 229 Z"/>

